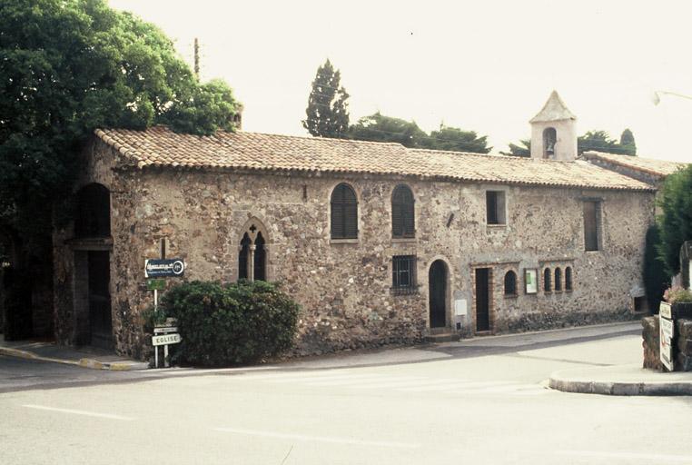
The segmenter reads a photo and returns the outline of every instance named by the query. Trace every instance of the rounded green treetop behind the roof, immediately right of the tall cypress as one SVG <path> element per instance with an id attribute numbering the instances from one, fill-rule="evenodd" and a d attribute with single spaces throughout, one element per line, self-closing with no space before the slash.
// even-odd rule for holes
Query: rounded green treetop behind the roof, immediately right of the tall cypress
<path id="1" fill-rule="evenodd" d="M 418 124 L 380 112 L 364 116 L 349 128 L 349 138 L 359 141 L 394 142 L 406 147 L 424 146 L 428 137 Z"/>

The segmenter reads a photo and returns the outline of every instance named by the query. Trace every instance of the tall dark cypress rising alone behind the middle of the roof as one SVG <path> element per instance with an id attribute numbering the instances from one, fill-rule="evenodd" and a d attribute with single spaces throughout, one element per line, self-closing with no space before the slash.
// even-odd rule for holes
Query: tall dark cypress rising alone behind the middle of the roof
<path id="1" fill-rule="evenodd" d="M 302 126 L 318 137 L 344 137 L 349 129 L 349 94 L 341 86 L 341 72 L 329 60 L 317 68 Z"/>

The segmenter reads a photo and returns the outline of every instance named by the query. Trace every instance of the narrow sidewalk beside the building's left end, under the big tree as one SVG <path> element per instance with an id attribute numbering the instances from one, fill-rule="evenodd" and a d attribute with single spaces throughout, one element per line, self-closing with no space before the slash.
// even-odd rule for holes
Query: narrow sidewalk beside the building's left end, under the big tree
<path id="1" fill-rule="evenodd" d="M 58 346 L 54 342 L 5 341 L 0 334 L 0 355 L 19 357 L 36 361 L 52 361 L 94 370 L 130 371 L 146 370 L 149 363 L 133 361 L 110 351 L 94 348 Z"/>

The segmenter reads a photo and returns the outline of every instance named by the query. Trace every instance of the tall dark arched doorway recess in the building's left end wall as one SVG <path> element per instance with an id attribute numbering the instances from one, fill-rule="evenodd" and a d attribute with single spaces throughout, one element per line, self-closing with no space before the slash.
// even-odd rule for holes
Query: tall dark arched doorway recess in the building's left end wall
<path id="1" fill-rule="evenodd" d="M 75 343 L 113 348 L 111 193 L 98 183 L 76 194 L 74 218 Z"/>

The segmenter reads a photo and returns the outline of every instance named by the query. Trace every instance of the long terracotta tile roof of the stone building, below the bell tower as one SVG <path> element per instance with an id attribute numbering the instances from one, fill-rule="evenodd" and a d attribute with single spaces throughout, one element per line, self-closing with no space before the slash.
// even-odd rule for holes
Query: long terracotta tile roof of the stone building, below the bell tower
<path id="1" fill-rule="evenodd" d="M 97 129 L 95 134 L 121 154 L 119 165 L 139 168 L 372 173 L 448 181 L 653 190 L 647 183 L 584 161 L 414 150 L 399 143 L 276 134 L 219 132 L 196 136 L 175 134 L 163 126 L 146 131 Z"/>

